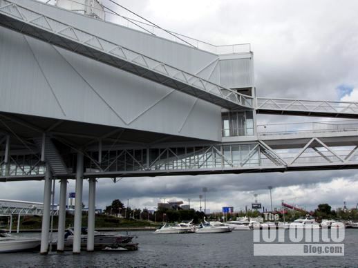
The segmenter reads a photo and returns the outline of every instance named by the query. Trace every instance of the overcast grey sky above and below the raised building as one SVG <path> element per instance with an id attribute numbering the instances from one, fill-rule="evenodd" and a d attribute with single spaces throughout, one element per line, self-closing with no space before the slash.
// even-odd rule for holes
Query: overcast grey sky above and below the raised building
<path id="1" fill-rule="evenodd" d="M 116 0 L 147 19 L 215 45 L 250 43 L 254 51 L 259 96 L 358 101 L 358 1 Z M 113 4 L 103 1 L 109 7 Z M 118 10 L 122 15 L 128 15 Z M 259 122 L 317 121 L 318 118 L 259 117 Z M 358 174 L 310 171 L 242 175 L 124 178 L 97 184 L 97 207 L 127 200 L 131 207 L 156 207 L 160 198 L 185 200 L 199 209 L 207 186 L 207 208 L 243 209 L 254 201 L 274 207 L 281 200 L 307 209 L 328 202 L 348 207 L 358 202 Z M 74 182 L 68 184 L 75 189 Z M 0 184 L 0 198 L 42 201 L 43 182 Z M 57 185 L 57 192 L 58 192 Z M 88 183 L 84 183 L 87 203 Z"/>

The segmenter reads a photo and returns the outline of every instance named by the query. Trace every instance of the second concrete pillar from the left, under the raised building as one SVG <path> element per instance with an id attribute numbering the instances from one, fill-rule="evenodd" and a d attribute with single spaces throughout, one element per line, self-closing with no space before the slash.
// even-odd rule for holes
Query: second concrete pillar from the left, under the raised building
<path id="1" fill-rule="evenodd" d="M 66 224 L 66 195 L 67 195 L 67 180 L 61 179 L 59 188 L 59 226 L 57 234 L 57 251 L 64 251 L 64 233 Z"/>

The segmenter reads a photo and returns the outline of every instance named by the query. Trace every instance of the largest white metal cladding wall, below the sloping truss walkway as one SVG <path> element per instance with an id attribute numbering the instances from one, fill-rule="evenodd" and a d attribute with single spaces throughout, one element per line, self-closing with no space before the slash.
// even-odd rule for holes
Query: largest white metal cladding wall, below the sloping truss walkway
<path id="1" fill-rule="evenodd" d="M 6 28 L 0 81 L 1 111 L 221 140 L 220 107 Z"/>

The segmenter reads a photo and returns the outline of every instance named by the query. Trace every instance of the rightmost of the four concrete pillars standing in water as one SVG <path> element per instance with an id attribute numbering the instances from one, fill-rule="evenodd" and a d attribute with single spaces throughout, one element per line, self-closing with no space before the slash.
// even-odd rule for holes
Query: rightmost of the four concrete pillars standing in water
<path id="1" fill-rule="evenodd" d="M 87 251 L 95 250 L 95 178 L 89 180 Z"/>

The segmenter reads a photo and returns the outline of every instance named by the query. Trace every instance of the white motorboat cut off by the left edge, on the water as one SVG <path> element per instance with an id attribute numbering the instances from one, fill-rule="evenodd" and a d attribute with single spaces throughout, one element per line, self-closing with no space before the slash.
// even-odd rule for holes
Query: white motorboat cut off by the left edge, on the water
<path id="1" fill-rule="evenodd" d="M 39 248 L 41 240 L 37 238 L 21 238 L 10 233 L 0 233 L 0 253 L 30 251 Z"/>

